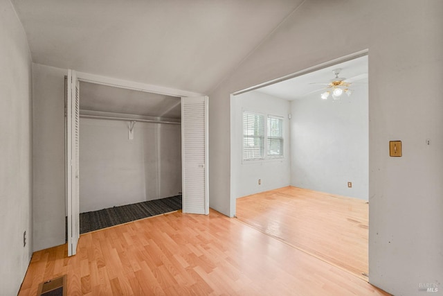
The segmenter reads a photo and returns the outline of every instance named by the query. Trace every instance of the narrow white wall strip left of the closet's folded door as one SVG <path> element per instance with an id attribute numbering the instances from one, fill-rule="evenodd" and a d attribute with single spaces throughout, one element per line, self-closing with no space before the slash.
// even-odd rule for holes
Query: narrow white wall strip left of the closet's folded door
<path id="1" fill-rule="evenodd" d="M 68 70 L 33 64 L 33 250 L 65 243 L 64 76 Z"/>

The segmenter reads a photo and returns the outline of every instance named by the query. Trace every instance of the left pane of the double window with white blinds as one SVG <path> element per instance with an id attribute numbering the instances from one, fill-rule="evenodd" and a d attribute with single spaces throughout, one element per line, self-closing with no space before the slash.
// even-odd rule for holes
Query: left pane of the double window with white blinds
<path id="1" fill-rule="evenodd" d="M 243 113 L 243 159 L 264 158 L 264 116 Z"/>

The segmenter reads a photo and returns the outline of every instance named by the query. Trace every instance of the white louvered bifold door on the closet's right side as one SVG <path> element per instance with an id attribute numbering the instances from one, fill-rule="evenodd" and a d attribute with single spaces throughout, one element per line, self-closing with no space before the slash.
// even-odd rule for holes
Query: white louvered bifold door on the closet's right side
<path id="1" fill-rule="evenodd" d="M 208 97 L 181 98 L 183 213 L 209 214 Z"/>

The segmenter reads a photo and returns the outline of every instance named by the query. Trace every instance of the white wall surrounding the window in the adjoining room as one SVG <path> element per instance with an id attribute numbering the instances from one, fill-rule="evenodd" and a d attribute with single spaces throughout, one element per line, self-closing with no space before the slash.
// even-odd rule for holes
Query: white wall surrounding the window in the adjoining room
<path id="1" fill-rule="evenodd" d="M 233 164 L 233 194 L 236 198 L 245 195 L 277 189 L 283 186 L 289 186 L 290 168 L 289 168 L 289 101 L 282 98 L 275 98 L 260 92 L 246 92 L 233 96 L 233 110 L 231 110 L 231 133 L 233 134 L 233 150 L 231 157 L 235 160 Z M 284 157 L 282 159 L 266 159 L 259 161 L 243 161 L 243 111 L 257 112 L 282 116 L 284 131 Z M 234 135 L 235 134 L 235 135 Z M 258 180 L 262 184 L 258 184 Z"/>

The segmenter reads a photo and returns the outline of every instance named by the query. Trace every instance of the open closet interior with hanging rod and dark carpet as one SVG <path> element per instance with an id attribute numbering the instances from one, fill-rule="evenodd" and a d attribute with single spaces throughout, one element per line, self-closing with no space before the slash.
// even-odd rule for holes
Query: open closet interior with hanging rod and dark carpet
<path id="1" fill-rule="evenodd" d="M 182 209 L 181 98 L 80 80 L 80 234 Z"/>

